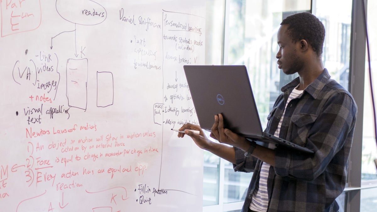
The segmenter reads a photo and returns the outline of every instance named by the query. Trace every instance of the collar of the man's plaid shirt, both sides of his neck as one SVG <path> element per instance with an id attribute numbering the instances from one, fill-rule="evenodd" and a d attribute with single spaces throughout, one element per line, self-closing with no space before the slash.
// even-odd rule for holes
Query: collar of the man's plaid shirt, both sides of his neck
<path id="1" fill-rule="evenodd" d="M 318 97 L 320 94 L 320 91 L 322 91 L 322 88 L 325 86 L 325 84 L 330 80 L 331 76 L 329 75 L 329 72 L 327 69 L 324 69 L 322 74 L 320 74 L 316 80 L 314 80 L 312 83 L 308 85 L 307 88 L 305 88 L 304 91 L 306 91 L 308 94 L 310 94 L 314 99 Z M 292 80 L 290 83 L 286 84 L 285 86 L 282 87 L 281 91 L 286 92 L 289 91 L 291 92 L 297 84 L 300 83 L 299 77 L 295 78 Z"/>

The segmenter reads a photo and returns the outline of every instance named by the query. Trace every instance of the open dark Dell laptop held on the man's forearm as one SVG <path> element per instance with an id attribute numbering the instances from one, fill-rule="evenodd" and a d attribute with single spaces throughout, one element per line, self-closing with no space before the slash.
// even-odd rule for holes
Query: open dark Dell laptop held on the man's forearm
<path id="1" fill-rule="evenodd" d="M 224 127 L 248 140 L 313 153 L 262 130 L 246 66 L 184 65 L 183 69 L 202 129 L 211 131 L 214 116 L 222 114 Z"/>

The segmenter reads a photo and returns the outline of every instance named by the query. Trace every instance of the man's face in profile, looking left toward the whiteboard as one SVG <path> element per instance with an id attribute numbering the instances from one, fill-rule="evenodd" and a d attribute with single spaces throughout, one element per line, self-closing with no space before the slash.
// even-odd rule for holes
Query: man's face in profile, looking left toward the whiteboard
<path id="1" fill-rule="evenodd" d="M 294 74 L 303 67 L 302 58 L 299 57 L 300 41 L 293 42 L 287 32 L 288 25 L 281 25 L 277 32 L 279 51 L 276 54 L 279 69 L 285 74 Z"/>

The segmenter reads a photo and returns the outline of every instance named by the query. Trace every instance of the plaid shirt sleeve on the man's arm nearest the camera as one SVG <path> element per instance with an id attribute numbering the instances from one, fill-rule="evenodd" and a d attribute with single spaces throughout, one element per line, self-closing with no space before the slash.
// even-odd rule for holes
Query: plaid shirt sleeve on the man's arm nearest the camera
<path id="1" fill-rule="evenodd" d="M 308 129 L 306 147 L 314 154 L 276 149 L 275 173 L 302 180 L 314 180 L 333 161 L 344 169 L 351 148 L 357 106 L 351 96 L 340 92 L 329 97 Z M 305 128 L 306 126 L 302 126 Z"/>

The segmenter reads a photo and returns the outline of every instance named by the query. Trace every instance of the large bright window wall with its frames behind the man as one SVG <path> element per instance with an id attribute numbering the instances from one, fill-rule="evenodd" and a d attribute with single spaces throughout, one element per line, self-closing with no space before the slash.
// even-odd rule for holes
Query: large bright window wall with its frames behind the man
<path id="1" fill-rule="evenodd" d="M 206 43 L 211 43 L 208 48 L 206 46 L 206 64 L 247 66 L 258 112 L 265 127 L 267 115 L 281 92 L 280 88 L 297 76 L 287 76 L 277 68 L 276 34 L 282 19 L 294 12 L 310 11 L 313 8 L 313 14 L 322 21 L 326 30 L 322 55 L 324 66 L 333 79 L 349 89 L 351 14 L 352 6 L 356 4 L 361 3 L 359 0 L 207 0 L 206 31 L 212 37 L 207 39 Z M 376 9 L 377 2 L 368 1 L 372 71 L 377 60 L 377 14 L 374 12 Z M 209 19 L 208 13 L 211 15 Z M 360 16 L 359 9 L 355 14 Z M 219 40 L 223 45 L 217 45 Z M 363 147 L 362 151 L 356 153 L 357 157 L 362 157 L 362 171 L 357 173 L 358 176 L 361 175 L 362 186 L 346 188 L 340 195 L 339 204 L 345 211 L 357 210 L 349 204 L 361 203 L 360 211 L 374 211 L 372 209 L 377 207 L 377 171 L 374 164 L 377 146 L 372 126 L 368 64 L 365 68 L 364 102 L 357 102 L 359 108 L 361 106 L 364 110 Z M 360 70 L 355 70 L 358 71 Z M 376 84 L 377 74 L 373 77 Z M 377 85 L 374 92 L 377 92 Z M 252 173 L 234 172 L 232 164 L 206 151 L 204 164 L 203 211 L 239 212 Z M 360 164 L 354 162 L 352 166 L 360 167 Z M 360 198 L 357 194 L 361 194 Z"/>

